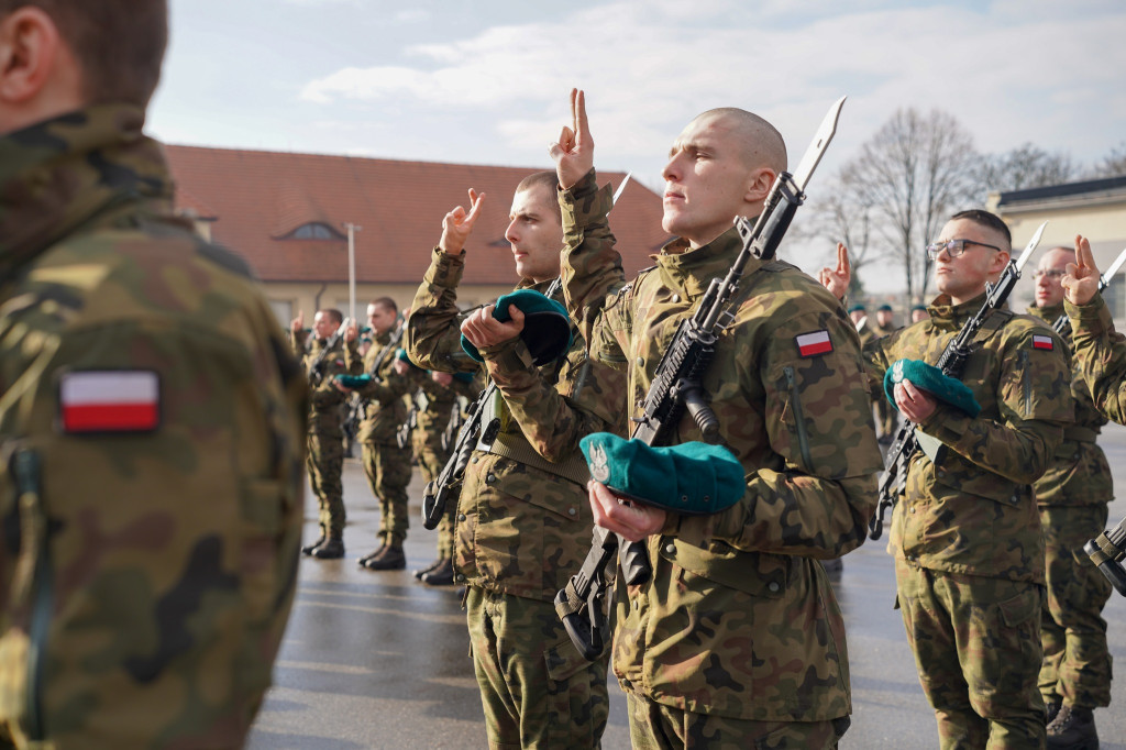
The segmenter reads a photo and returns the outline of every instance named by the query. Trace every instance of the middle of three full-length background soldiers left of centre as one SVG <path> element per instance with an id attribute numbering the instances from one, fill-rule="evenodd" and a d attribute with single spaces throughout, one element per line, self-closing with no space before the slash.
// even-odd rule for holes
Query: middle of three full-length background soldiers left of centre
<path id="1" fill-rule="evenodd" d="M 358 561 L 360 568 L 367 570 L 406 568 L 403 543 L 410 527 L 406 485 L 411 483 L 411 452 L 399 447 L 395 434 L 406 419 L 404 396 L 412 392 L 415 381 L 395 369 L 395 354 L 402 337 L 397 320 L 399 307 L 394 300 L 373 300 L 367 306 L 372 348 L 364 355 L 363 364 L 355 363 L 355 372 L 372 377 L 367 385 L 356 391 L 364 399 L 364 419 L 356 439 L 363 446 L 367 482 L 379 501 L 379 546 Z M 354 340 L 358 334 L 358 329 L 351 328 L 345 333 L 345 340 Z M 405 367 L 405 363 L 400 366 Z M 339 381 L 337 387 L 349 391 Z"/>

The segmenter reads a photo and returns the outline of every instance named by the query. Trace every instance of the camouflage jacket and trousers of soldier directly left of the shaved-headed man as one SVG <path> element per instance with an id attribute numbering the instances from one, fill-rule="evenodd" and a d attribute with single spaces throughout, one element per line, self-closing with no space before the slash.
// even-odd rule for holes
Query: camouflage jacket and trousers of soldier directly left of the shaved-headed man
<path id="1" fill-rule="evenodd" d="M 461 348 L 455 304 L 464 256 L 435 250 L 408 319 L 408 351 L 443 372 L 476 366 Z M 543 292 L 547 284 L 521 283 Z M 574 409 L 589 370 L 575 337 L 537 369 L 519 338 L 481 349 L 499 392 L 491 446 L 479 445 L 457 502 L 454 566 L 466 596 L 473 663 L 491 747 L 592 748 L 606 727 L 606 659 L 588 662 L 553 599 L 590 548 L 592 518 L 579 439 L 615 416 Z M 534 446 L 534 447 L 533 447 Z"/>

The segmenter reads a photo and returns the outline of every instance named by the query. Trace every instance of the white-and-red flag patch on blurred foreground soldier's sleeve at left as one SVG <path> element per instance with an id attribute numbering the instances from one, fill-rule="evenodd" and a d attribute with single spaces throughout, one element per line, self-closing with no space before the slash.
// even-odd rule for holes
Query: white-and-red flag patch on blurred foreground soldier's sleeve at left
<path id="1" fill-rule="evenodd" d="M 160 426 L 160 378 L 150 370 L 66 373 L 59 383 L 63 432 L 151 432 Z"/>

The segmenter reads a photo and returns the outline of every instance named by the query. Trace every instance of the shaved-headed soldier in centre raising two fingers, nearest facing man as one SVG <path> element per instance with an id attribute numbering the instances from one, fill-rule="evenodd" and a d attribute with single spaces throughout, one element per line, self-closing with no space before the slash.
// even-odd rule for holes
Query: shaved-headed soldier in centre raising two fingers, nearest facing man
<path id="1" fill-rule="evenodd" d="M 678 323 L 742 247 L 733 218 L 761 212 L 786 148 L 742 109 L 694 119 L 663 172 L 662 226 L 679 239 L 623 286 L 582 92 L 572 111 L 552 146 L 568 307 L 591 330 L 592 361 L 627 373 L 602 398 L 635 416 Z M 859 546 L 875 507 L 860 343 L 840 303 L 789 264 L 752 258 L 740 295 L 704 387 L 747 473 L 743 499 L 688 516 L 590 484 L 596 523 L 645 541 L 653 565 L 649 582 L 616 588 L 614 671 L 635 748 L 831 748 L 850 722 L 843 620 L 817 562 Z M 589 380 L 583 393 L 598 395 Z M 686 417 L 677 440 L 691 439 Z"/>

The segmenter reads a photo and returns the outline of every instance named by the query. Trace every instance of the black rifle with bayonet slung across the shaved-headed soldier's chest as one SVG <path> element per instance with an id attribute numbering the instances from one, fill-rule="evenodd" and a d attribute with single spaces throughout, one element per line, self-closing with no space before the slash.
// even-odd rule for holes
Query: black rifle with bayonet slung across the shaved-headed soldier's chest
<path id="1" fill-rule="evenodd" d="M 668 444 L 685 411 L 691 416 L 705 440 L 712 443 L 718 437 L 720 421 L 707 404 L 701 383 L 715 356 L 715 342 L 721 331 L 735 319 L 734 297 L 747 264 L 751 257 L 761 260 L 774 258 L 797 207 L 805 202 L 805 186 L 837 132 L 837 120 L 843 106 L 844 98 L 841 97 L 829 108 L 794 173 L 784 171 L 778 175 L 754 224 L 742 217 L 735 218 L 743 248 L 726 276 L 712 279 L 696 313 L 678 325 L 669 348 L 658 363 L 642 413 L 633 420 L 633 438 L 647 445 Z M 619 546 L 618 537 L 596 526 L 593 544 L 582 566 L 555 595 L 555 611 L 571 641 L 589 660 L 602 652 L 609 578 L 606 568 Z M 643 582 L 644 578 L 638 580 L 641 573 L 647 578 L 651 568 L 644 544 L 628 544 L 620 557 L 628 584 Z M 582 617 L 583 611 L 586 618 Z"/>

